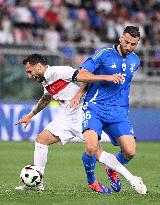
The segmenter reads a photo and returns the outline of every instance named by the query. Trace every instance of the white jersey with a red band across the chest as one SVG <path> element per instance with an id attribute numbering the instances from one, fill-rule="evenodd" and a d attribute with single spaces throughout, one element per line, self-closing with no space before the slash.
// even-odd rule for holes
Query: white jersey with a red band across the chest
<path id="1" fill-rule="evenodd" d="M 76 69 L 70 66 L 48 66 L 42 82 L 44 93 L 49 93 L 60 104 L 67 106 L 79 86 L 71 82 Z"/>

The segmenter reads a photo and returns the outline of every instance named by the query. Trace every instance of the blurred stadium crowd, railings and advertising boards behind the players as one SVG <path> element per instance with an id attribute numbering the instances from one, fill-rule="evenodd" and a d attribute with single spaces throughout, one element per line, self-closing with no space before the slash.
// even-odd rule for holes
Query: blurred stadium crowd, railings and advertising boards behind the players
<path id="1" fill-rule="evenodd" d="M 95 49 L 118 43 L 127 25 L 141 31 L 130 118 L 138 140 L 160 141 L 160 0 L 0 0 L 0 140 L 34 140 L 58 110 L 53 101 L 26 130 L 14 126 L 43 94 L 24 57 L 38 52 L 50 65 L 78 68 Z"/>

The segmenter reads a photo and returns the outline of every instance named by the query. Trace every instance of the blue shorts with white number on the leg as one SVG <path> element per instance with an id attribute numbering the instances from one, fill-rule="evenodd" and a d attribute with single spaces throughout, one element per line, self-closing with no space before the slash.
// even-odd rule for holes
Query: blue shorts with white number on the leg
<path id="1" fill-rule="evenodd" d="M 105 119 L 96 114 L 94 110 L 87 108 L 83 110 L 82 132 L 89 129 L 94 130 L 98 134 L 99 140 L 101 139 L 103 130 L 115 146 L 118 145 L 117 138 L 120 136 L 134 136 L 133 127 L 128 118 L 111 123 L 105 121 Z"/>

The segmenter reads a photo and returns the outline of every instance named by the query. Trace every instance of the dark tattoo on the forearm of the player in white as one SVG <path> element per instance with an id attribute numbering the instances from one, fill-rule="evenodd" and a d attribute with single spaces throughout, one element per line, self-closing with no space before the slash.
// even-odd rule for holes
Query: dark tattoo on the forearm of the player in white
<path id="1" fill-rule="evenodd" d="M 43 110 L 51 101 L 52 96 L 51 95 L 43 95 L 41 99 L 38 101 L 37 105 L 35 108 L 32 110 L 32 113 L 36 115 L 39 113 L 41 110 Z"/>

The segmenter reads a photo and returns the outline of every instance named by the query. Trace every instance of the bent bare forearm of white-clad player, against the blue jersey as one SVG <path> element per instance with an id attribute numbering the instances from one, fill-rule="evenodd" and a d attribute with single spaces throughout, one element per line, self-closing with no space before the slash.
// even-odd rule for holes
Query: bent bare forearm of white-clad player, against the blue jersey
<path id="1" fill-rule="evenodd" d="M 76 108 L 79 105 L 80 100 L 84 96 L 86 91 L 87 91 L 87 83 L 81 83 L 80 89 L 78 90 L 78 92 L 73 96 L 73 98 L 70 101 L 71 108 Z"/>

